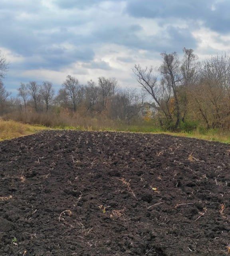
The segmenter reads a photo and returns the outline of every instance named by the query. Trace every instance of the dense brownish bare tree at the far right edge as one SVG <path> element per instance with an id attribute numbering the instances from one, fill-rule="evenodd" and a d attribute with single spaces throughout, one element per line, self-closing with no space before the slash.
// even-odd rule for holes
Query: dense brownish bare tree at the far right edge
<path id="1" fill-rule="evenodd" d="M 195 99 L 207 128 L 228 128 L 230 125 L 230 57 L 211 56 L 200 68 L 199 83 L 194 86 L 190 101 Z M 196 118 L 199 116 L 196 113 Z"/>

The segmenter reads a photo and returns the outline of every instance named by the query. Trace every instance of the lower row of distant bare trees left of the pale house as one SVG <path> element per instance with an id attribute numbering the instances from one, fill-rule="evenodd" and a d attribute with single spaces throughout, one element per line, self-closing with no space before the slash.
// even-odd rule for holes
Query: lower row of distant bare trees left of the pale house
<path id="1" fill-rule="evenodd" d="M 7 100 L 10 94 L 3 83 L 1 85 L 0 95 L 4 97 L 1 100 L 2 113 L 15 110 L 25 113 L 55 112 L 58 108 L 58 110 L 69 110 L 72 114 L 75 112 L 88 116 L 104 114 L 113 120 L 129 123 L 132 118 L 139 116 L 139 110 L 144 104 L 143 94 L 135 89 L 121 88 L 116 78 L 103 76 L 98 78 L 97 84 L 89 80 L 83 85 L 76 77 L 68 75 L 57 94 L 50 81 L 44 81 L 42 84 L 36 81 L 21 83 L 17 89 L 17 97 L 10 100 Z"/>

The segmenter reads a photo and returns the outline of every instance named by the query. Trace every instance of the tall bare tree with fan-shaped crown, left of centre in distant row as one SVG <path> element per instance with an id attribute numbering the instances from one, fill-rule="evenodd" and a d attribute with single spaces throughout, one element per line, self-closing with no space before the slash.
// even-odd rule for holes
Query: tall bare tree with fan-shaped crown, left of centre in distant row
<path id="1" fill-rule="evenodd" d="M 77 105 L 81 102 L 83 98 L 83 87 L 79 84 L 77 78 L 70 75 L 67 76 L 62 86 L 73 105 L 73 111 L 76 112 Z"/>

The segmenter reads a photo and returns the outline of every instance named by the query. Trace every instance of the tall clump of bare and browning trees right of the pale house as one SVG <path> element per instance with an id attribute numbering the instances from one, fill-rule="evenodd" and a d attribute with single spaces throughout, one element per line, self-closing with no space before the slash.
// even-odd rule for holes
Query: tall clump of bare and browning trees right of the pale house
<path id="1" fill-rule="evenodd" d="M 151 95 L 161 126 L 177 130 L 189 122 L 209 128 L 230 128 L 230 57 L 200 61 L 192 49 L 163 52 L 159 68 L 135 65 L 139 85 Z"/>

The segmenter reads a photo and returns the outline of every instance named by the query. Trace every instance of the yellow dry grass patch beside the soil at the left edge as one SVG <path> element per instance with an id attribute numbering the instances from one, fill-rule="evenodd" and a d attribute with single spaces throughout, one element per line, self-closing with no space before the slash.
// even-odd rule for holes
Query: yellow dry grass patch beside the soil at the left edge
<path id="1" fill-rule="evenodd" d="M 12 120 L 4 121 L 0 119 L 0 140 L 8 140 L 20 136 L 26 136 L 45 129 L 48 128 L 43 126 L 22 124 Z"/>

